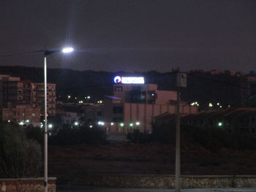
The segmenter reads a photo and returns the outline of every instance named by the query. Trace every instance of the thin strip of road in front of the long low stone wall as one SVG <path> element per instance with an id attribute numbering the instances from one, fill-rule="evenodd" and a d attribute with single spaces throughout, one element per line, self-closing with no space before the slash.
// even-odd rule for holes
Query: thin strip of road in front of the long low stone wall
<path id="1" fill-rule="evenodd" d="M 156 188 L 93 188 L 83 186 L 60 187 L 57 192 L 175 192 L 174 189 Z M 190 188 L 181 192 L 256 192 L 256 188 Z"/>

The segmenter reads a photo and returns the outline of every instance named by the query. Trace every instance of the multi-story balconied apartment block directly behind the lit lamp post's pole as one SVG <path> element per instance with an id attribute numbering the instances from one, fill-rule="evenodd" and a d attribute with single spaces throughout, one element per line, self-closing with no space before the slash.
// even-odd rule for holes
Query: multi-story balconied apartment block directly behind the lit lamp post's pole
<path id="1" fill-rule="evenodd" d="M 31 83 L 32 104 L 34 107 L 41 108 L 41 114 L 45 114 L 45 84 Z M 47 109 L 48 115 L 56 115 L 56 84 L 47 84 Z"/>

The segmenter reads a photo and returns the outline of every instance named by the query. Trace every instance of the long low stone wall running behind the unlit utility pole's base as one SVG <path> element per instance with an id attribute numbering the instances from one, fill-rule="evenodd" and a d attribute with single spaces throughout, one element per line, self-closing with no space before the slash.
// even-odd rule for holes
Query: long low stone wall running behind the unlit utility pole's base
<path id="1" fill-rule="evenodd" d="M 73 185 L 94 185 L 125 188 L 174 188 L 170 174 L 91 175 L 74 180 Z M 256 175 L 183 175 L 182 188 L 247 188 L 256 187 Z"/>

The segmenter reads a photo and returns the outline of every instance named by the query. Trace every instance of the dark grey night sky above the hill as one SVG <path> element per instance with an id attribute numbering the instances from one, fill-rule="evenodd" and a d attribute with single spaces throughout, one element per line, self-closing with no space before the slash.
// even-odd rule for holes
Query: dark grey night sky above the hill
<path id="1" fill-rule="evenodd" d="M 1 0 L 0 54 L 72 45 L 48 66 L 256 70 L 255 0 Z M 42 54 L 0 65 L 42 66 Z"/>

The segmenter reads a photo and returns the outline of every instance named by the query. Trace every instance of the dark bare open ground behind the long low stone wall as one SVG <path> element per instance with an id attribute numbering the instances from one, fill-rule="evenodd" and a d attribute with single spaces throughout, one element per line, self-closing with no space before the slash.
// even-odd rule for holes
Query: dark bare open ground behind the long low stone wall
<path id="1" fill-rule="evenodd" d="M 174 174 L 175 147 L 151 144 L 49 146 L 49 175 L 70 184 L 90 174 Z M 181 174 L 256 174 L 255 150 L 182 146 Z"/>

